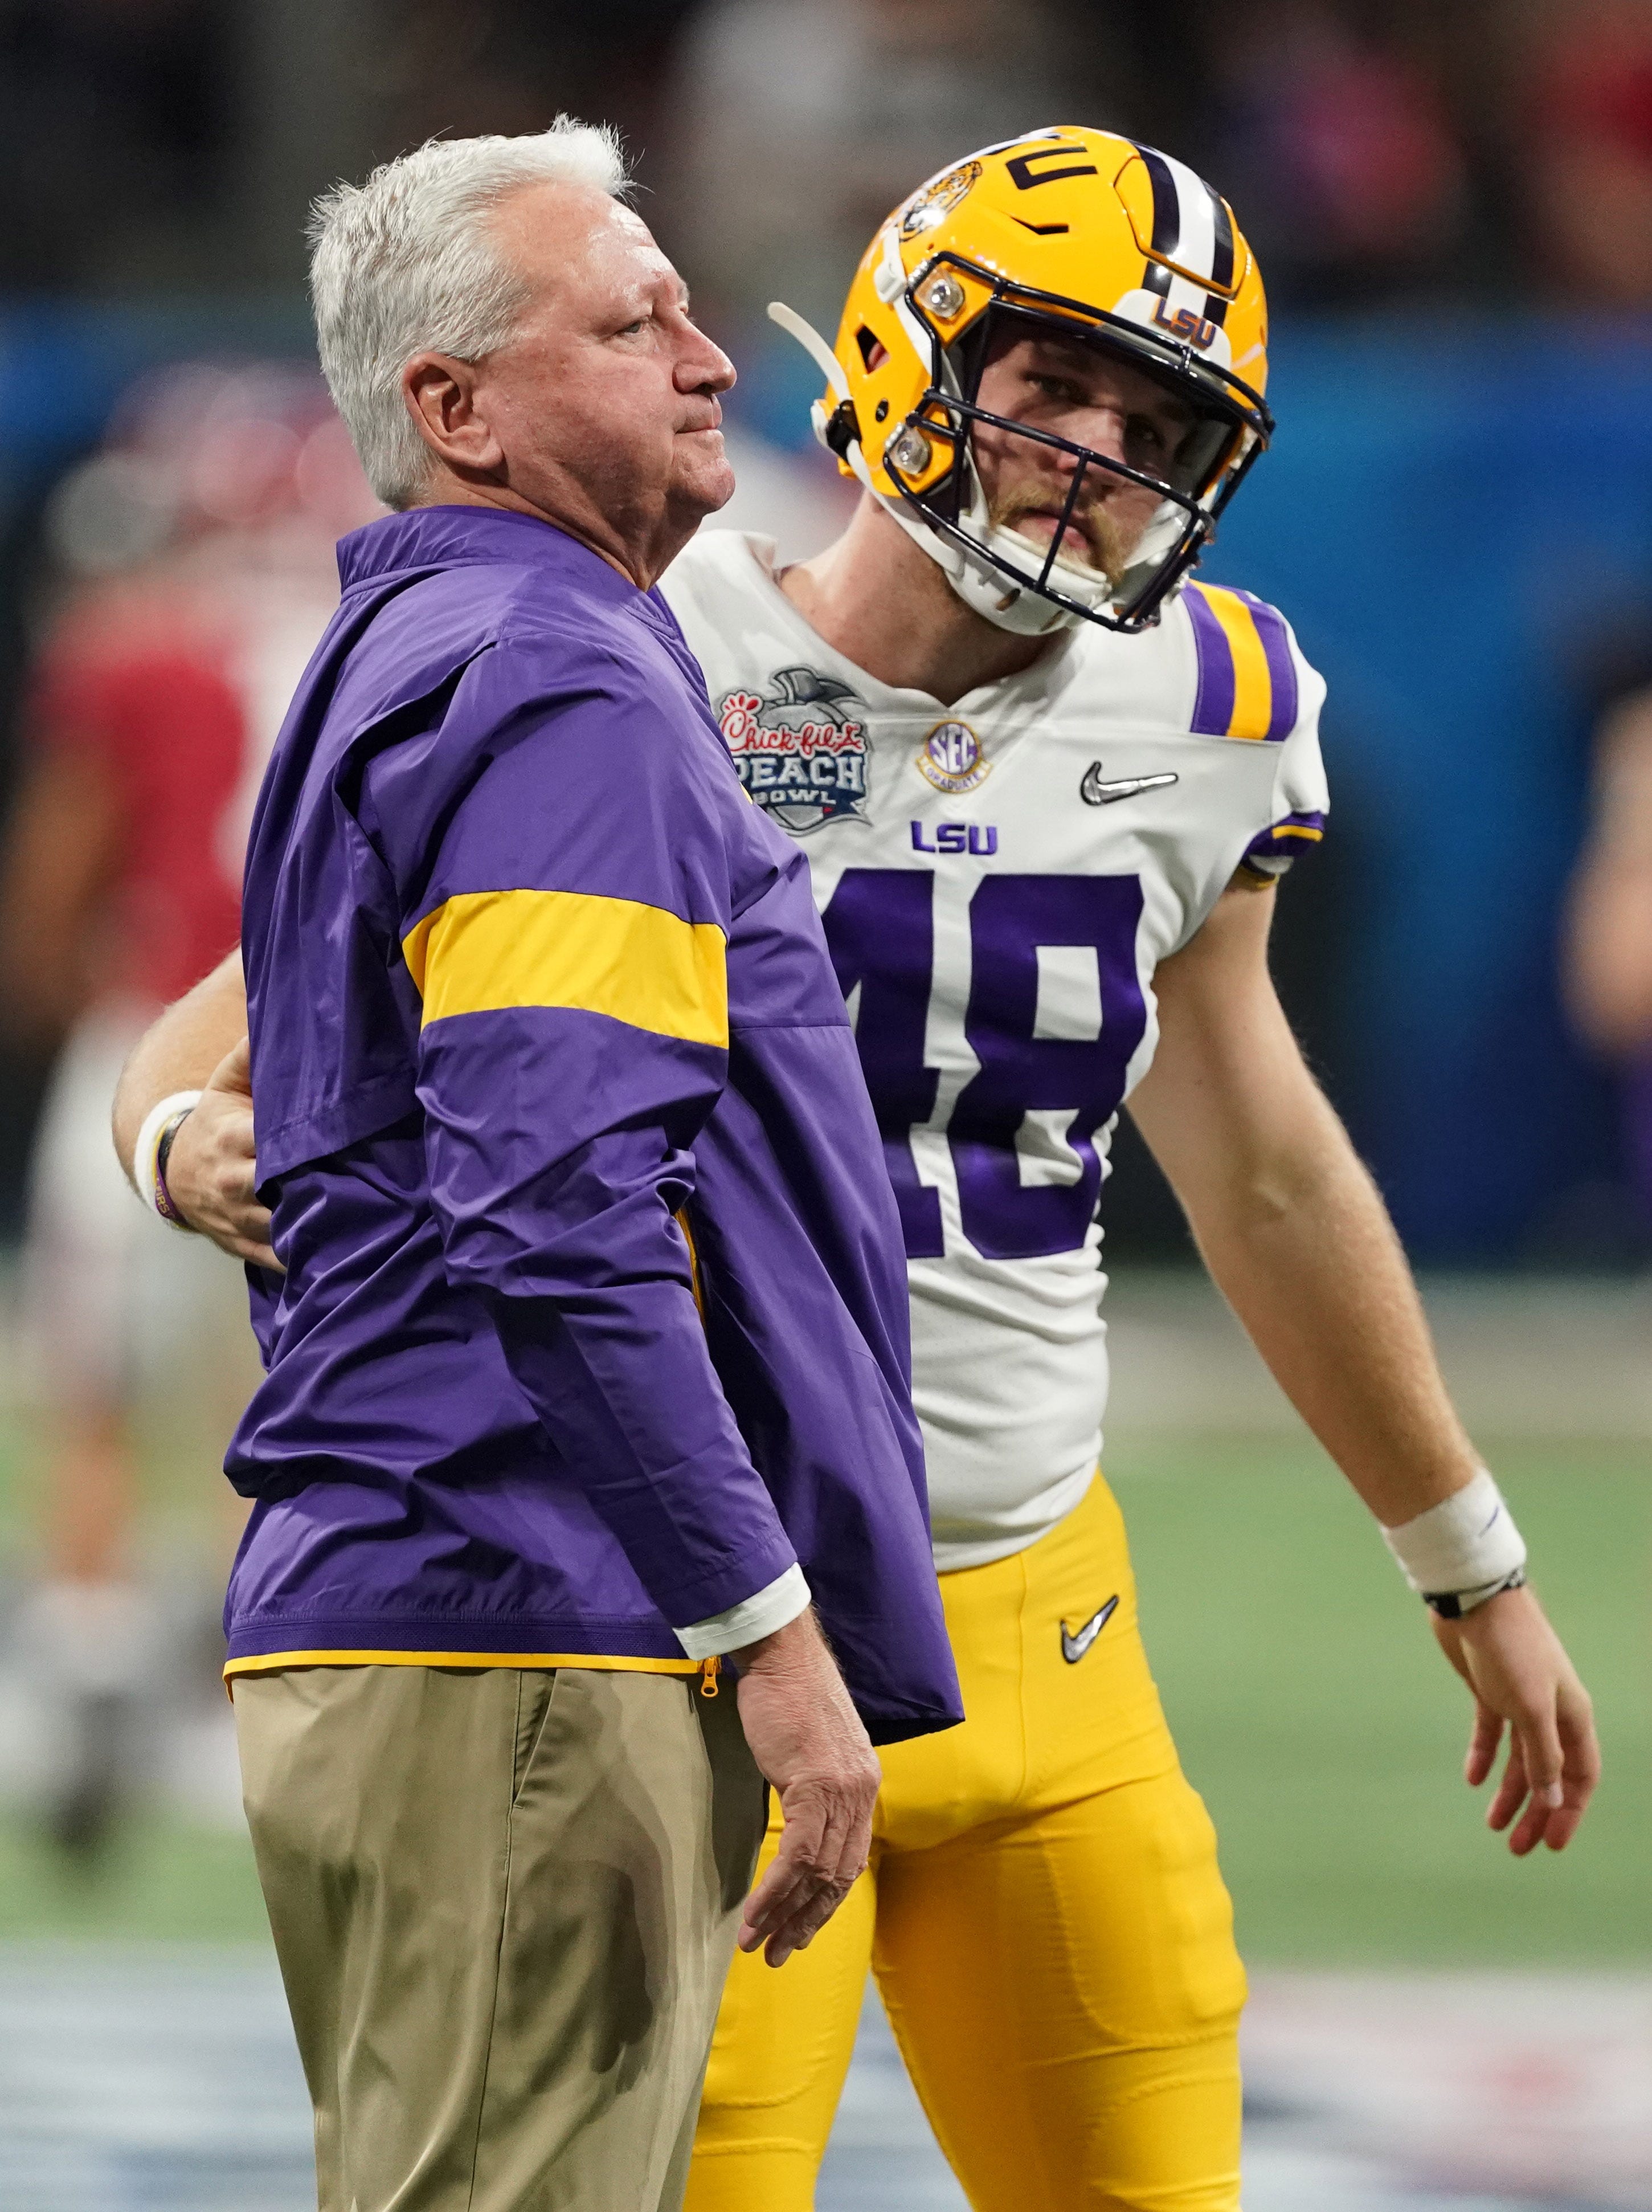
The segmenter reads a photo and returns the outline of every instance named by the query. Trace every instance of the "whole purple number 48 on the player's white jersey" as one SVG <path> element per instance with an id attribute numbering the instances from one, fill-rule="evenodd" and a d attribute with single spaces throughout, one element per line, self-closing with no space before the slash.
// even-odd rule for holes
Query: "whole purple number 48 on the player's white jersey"
<path id="1" fill-rule="evenodd" d="M 909 1259 L 940 1259 L 940 1197 L 918 1181 L 913 1124 L 935 1110 L 924 1066 L 933 964 L 933 887 L 924 869 L 851 867 L 825 911 L 845 998 L 860 987 L 856 1042 L 882 1130 Z M 989 876 L 969 907 L 971 991 L 964 1033 L 980 1060 L 951 1115 L 964 1234 L 986 1259 L 1075 1252 L 1101 1188 L 1097 1128 L 1119 1110 L 1148 1011 L 1137 978 L 1141 885 L 1135 876 Z M 1039 1037 L 1039 949 L 1095 951 L 1095 1037 Z M 1015 1137 L 1028 1113 L 1066 1115 L 1079 1161 L 1070 1183 L 1022 1183 Z"/>

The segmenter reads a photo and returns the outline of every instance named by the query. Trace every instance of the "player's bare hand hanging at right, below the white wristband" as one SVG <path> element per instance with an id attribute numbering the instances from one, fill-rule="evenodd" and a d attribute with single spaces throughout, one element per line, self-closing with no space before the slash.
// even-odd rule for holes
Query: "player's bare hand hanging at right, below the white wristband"
<path id="1" fill-rule="evenodd" d="M 1515 1814 L 1508 1849 L 1524 1858 L 1546 1843 L 1564 1851 L 1601 1778 L 1595 1710 L 1572 1661 L 1533 1590 L 1504 1590 L 1460 1621 L 1429 1615 L 1440 1650 L 1475 1699 L 1464 1778 L 1471 1790 L 1491 1774 L 1508 1728 L 1508 1763 L 1486 1812 L 1504 1829 Z M 1524 1807 L 1524 1809 L 1522 1809 Z"/>

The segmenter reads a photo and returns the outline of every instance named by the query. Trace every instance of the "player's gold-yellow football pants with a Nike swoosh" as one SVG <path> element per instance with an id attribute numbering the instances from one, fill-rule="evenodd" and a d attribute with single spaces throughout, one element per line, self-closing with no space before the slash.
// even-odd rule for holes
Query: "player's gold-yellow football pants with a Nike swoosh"
<path id="1" fill-rule="evenodd" d="M 686 2212 L 814 2203 L 867 1966 L 975 2212 L 1234 2212 L 1245 1973 L 1110 1489 L 940 1588 L 969 1719 L 882 1752 L 871 1865 L 814 1944 L 736 1955 Z"/>

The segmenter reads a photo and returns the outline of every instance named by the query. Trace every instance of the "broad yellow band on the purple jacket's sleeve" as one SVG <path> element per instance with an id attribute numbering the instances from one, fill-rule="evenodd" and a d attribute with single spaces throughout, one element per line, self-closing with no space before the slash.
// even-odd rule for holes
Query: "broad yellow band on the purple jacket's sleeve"
<path id="1" fill-rule="evenodd" d="M 590 891 L 460 891 L 402 938 L 425 1026 L 504 1006 L 573 1006 L 728 1048 L 717 922 Z"/>

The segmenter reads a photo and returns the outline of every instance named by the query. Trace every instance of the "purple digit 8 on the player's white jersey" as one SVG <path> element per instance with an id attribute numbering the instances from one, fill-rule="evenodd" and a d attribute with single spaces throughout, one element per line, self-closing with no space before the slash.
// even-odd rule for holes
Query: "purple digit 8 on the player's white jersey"
<path id="1" fill-rule="evenodd" d="M 986 1259 L 1075 1252 L 1101 1192 L 1097 1128 L 1119 1110 L 1148 1009 L 1137 978 L 1135 876 L 986 876 L 969 907 L 964 1035 L 980 1075 L 953 1108 L 949 1141 L 964 1234 Z M 1095 951 L 1095 1037 L 1039 1037 L 1039 949 Z M 1015 1137 L 1028 1113 L 1066 1113 L 1077 1181 L 1022 1183 Z"/>

